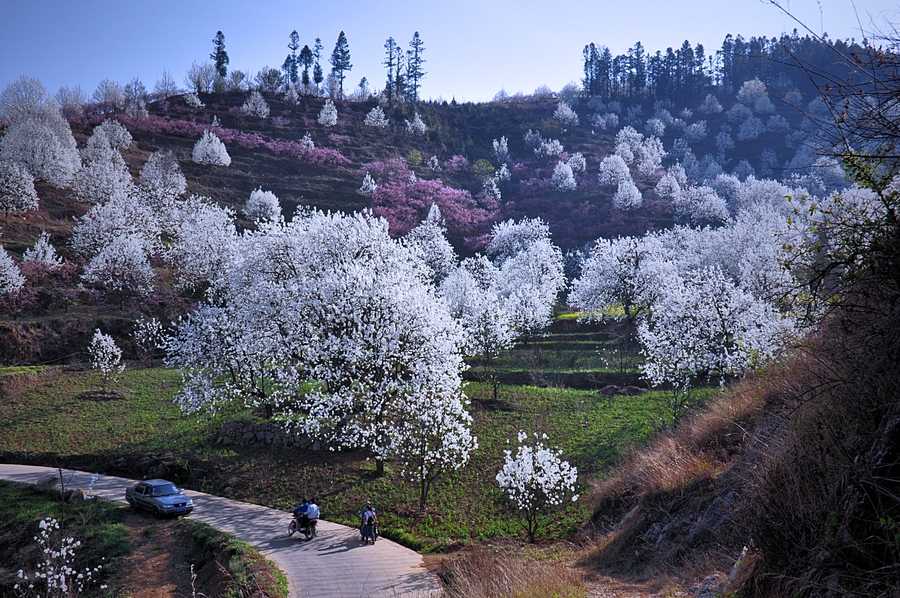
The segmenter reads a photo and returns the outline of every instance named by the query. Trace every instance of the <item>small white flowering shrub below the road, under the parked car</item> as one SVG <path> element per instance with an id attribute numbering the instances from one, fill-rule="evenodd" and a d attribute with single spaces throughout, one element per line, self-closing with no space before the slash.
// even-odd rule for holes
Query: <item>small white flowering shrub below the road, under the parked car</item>
<path id="1" fill-rule="evenodd" d="M 31 595 L 37 592 L 37 595 L 48 598 L 83 594 L 85 590 L 89 590 L 102 565 L 76 571 L 72 568 L 72 563 L 75 561 L 75 549 L 81 546 L 81 542 L 75 538 L 63 538 L 59 522 L 52 517 L 42 519 L 38 528 L 40 533 L 34 539 L 44 561 L 31 575 L 19 569 L 13 589 L 19 594 Z M 101 590 L 105 588 L 105 585 L 100 586 Z"/>

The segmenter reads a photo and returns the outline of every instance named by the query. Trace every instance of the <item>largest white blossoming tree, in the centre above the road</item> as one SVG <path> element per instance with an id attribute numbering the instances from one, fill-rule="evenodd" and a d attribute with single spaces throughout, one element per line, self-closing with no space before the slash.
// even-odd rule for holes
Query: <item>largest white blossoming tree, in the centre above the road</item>
<path id="1" fill-rule="evenodd" d="M 384 220 L 301 213 L 246 231 L 230 253 L 215 303 L 167 344 L 186 410 L 280 406 L 287 425 L 371 451 L 379 471 L 395 458 L 427 486 L 435 459 L 465 462 L 463 332 Z"/>

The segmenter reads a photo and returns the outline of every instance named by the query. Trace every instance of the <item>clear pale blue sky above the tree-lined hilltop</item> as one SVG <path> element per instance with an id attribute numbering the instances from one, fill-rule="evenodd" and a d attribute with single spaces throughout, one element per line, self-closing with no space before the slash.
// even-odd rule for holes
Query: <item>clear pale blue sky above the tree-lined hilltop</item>
<path id="1" fill-rule="evenodd" d="M 388 37 L 406 49 L 415 31 L 425 43 L 428 99 L 490 100 L 501 88 L 559 90 L 581 77 L 581 50 L 594 42 L 623 53 L 640 40 L 648 51 L 687 39 L 714 52 L 726 34 L 776 36 L 797 24 L 766 0 L 5 0 L 0 20 L 0 87 L 20 75 L 51 93 L 80 85 L 90 95 L 105 78 L 140 78 L 148 89 L 168 70 L 179 85 L 193 61 L 206 61 L 217 30 L 231 68 L 279 67 L 291 30 L 330 55 L 344 31 L 353 69 L 347 86 L 366 77 L 380 89 Z M 784 2 L 815 33 L 860 39 L 900 20 L 897 2 Z M 821 7 L 821 10 L 820 10 Z M 855 7 L 855 11 L 854 11 Z M 802 29 L 801 29 L 802 30 Z M 324 68 L 330 68 L 327 63 Z"/>

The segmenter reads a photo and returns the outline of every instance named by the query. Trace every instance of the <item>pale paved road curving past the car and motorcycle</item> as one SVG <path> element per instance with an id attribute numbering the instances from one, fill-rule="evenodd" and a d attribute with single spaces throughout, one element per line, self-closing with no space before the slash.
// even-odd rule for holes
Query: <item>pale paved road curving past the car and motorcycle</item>
<path id="1" fill-rule="evenodd" d="M 50 467 L 0 464 L 0 479 L 33 484 L 47 475 L 58 475 Z M 69 488 L 87 489 L 90 473 L 63 470 Z M 134 480 L 101 475 L 93 493 L 125 502 L 125 487 Z M 288 578 L 290 595 L 296 598 L 387 598 L 437 596 L 438 582 L 422 566 L 422 557 L 399 544 L 378 540 L 362 545 L 359 531 L 319 522 L 312 541 L 287 535 L 290 514 L 259 505 L 229 500 L 187 490 L 194 501 L 191 519 L 245 540 L 273 561 Z"/>

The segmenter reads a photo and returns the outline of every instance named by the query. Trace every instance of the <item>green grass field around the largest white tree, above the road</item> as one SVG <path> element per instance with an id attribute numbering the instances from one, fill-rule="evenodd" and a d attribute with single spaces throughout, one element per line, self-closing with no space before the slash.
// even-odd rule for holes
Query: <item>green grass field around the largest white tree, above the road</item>
<path id="1" fill-rule="evenodd" d="M 536 340 L 502 356 L 501 363 L 510 369 L 519 364 L 521 374 L 522 355 L 540 345 L 554 356 L 571 351 L 595 360 L 602 342 L 596 335 L 582 338 L 588 348 L 578 350 L 571 348 L 572 338 Z M 603 376 L 598 362 L 592 367 Z M 520 430 L 547 434 L 545 444 L 561 449 L 578 467 L 585 490 L 629 450 L 645 445 L 670 417 L 658 392 L 609 396 L 517 384 L 501 386 L 495 401 L 489 385 L 470 382 L 466 392 L 479 448 L 465 468 L 438 481 L 422 511 L 415 484 L 402 479 L 390 462 L 385 475 L 376 476 L 375 462 L 362 452 L 215 444 L 224 423 L 259 421 L 257 414 L 241 408 L 201 418 L 182 414 L 172 402 L 181 384 L 173 370 L 130 367 L 110 389 L 115 394 L 97 393 L 99 375 L 79 369 L 0 370 L 0 380 L 10 379 L 15 381 L 3 386 L 0 403 L 2 460 L 140 477 L 136 464 L 142 457 L 171 457 L 186 464 L 190 476 L 180 481 L 189 487 L 284 510 L 303 496 L 316 497 L 324 517 L 350 525 L 371 500 L 385 535 L 426 551 L 522 537 L 516 513 L 495 480 L 503 451 L 515 449 Z M 570 503 L 549 518 L 541 537 L 553 540 L 576 532 L 591 507 L 587 499 Z"/>

